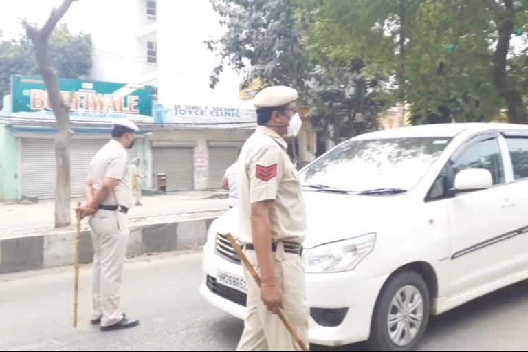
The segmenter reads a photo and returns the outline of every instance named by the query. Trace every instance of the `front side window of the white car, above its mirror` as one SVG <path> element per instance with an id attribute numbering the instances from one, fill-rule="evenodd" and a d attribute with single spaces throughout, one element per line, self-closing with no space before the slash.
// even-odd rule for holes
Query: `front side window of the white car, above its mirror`
<path id="1" fill-rule="evenodd" d="M 452 160 L 454 176 L 467 168 L 485 168 L 492 173 L 493 184 L 504 183 L 503 157 L 496 137 L 471 144 L 461 155 Z"/>

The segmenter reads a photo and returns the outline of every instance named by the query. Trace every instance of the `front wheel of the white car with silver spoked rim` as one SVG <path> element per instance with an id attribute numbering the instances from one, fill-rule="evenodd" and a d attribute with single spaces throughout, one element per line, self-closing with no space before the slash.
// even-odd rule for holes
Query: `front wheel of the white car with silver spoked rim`
<path id="1" fill-rule="evenodd" d="M 377 298 L 366 347 L 375 351 L 410 351 L 426 331 L 429 290 L 413 271 L 395 274 Z"/>

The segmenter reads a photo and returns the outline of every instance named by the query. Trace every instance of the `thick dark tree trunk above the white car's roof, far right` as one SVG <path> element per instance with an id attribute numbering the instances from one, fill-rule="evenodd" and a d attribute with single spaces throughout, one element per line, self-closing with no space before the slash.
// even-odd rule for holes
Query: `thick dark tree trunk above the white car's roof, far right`
<path id="1" fill-rule="evenodd" d="M 493 56 L 494 82 L 503 96 L 508 109 L 508 120 L 511 123 L 527 124 L 528 118 L 522 94 L 515 87 L 507 83 L 507 54 L 511 34 L 514 32 L 514 3 L 513 0 L 503 1 L 506 11 L 498 14 L 498 43 Z"/>

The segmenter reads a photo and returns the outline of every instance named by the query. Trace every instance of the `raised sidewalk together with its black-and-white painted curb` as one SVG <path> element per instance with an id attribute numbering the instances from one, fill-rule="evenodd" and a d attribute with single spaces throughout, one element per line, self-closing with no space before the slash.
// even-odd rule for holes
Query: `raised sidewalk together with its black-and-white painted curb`
<path id="1" fill-rule="evenodd" d="M 0 205 L 0 274 L 72 265 L 76 252 L 73 224 L 54 228 L 54 201 Z M 228 210 L 224 190 L 175 192 L 143 197 L 129 211 L 128 256 L 197 248 L 206 241 L 212 221 Z M 80 263 L 94 256 L 88 221 L 81 225 Z"/>

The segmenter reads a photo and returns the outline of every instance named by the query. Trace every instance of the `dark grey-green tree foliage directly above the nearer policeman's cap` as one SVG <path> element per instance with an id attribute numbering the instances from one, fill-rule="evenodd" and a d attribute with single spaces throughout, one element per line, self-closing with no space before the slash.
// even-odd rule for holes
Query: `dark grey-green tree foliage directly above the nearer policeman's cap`
<path id="1" fill-rule="evenodd" d="M 206 44 L 220 58 L 210 85 L 225 65 L 245 83 L 291 85 L 311 108 L 317 126 L 351 137 L 377 129 L 382 109 L 380 76 L 364 72 L 361 60 L 333 59 L 309 50 L 317 3 L 307 0 L 210 0 L 225 32 Z M 327 129 L 328 131 L 328 129 Z"/>

